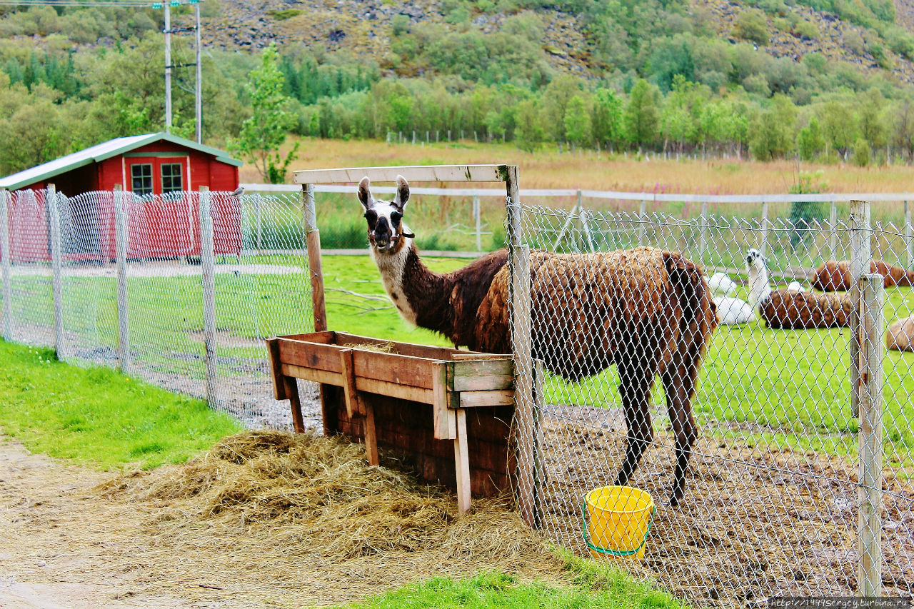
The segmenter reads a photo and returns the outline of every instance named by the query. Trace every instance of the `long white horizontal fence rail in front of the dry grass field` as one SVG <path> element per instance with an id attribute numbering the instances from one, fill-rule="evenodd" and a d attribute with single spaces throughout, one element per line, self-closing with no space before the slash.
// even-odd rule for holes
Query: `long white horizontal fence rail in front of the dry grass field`
<path id="1" fill-rule="evenodd" d="M 402 169 L 402 167 L 380 167 L 381 169 Z M 334 170 L 336 171 L 336 170 Z M 343 171 L 343 170 L 339 170 Z M 351 171 L 351 170 L 345 170 Z M 362 171 L 362 170 L 359 170 Z M 296 176 L 303 172 L 296 172 Z M 362 176 L 366 174 L 361 174 Z M 370 175 L 368 176 L 371 177 Z M 396 176 L 395 176 L 396 177 Z M 409 179 L 409 176 L 404 174 Z M 359 177 L 358 179 L 361 179 Z M 414 178 L 415 179 L 415 178 Z M 300 182 L 305 184 L 306 182 Z M 241 184 L 249 192 L 301 192 L 296 184 Z M 358 187 L 352 184 L 322 184 L 314 192 L 355 193 Z M 371 187 L 377 194 L 394 194 L 396 187 Z M 435 195 L 444 197 L 505 197 L 504 188 L 425 188 L 410 187 L 413 195 Z M 521 197 L 577 197 L 576 188 L 522 188 Z M 870 192 L 870 193 L 814 193 L 805 195 L 679 195 L 653 192 L 619 192 L 614 190 L 581 190 L 581 197 L 611 198 L 626 201 L 677 202 L 677 203 L 846 203 L 848 201 L 869 201 L 871 203 L 899 202 L 914 200 L 914 193 Z"/>

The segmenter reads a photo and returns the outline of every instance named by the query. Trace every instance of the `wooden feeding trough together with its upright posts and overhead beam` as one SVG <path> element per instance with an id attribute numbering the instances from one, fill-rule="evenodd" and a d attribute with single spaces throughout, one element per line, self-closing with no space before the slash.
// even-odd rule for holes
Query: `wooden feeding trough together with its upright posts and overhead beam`
<path id="1" fill-rule="evenodd" d="M 296 171 L 303 185 L 304 223 L 314 305 L 314 332 L 271 338 L 277 400 L 289 400 L 296 431 L 303 418 L 295 379 L 321 384 L 324 433 L 346 433 L 377 448 L 399 451 L 420 478 L 451 486 L 461 512 L 472 494 L 494 495 L 513 487 L 527 523 L 537 523 L 535 379 L 530 348 L 529 250 L 519 241 L 519 206 L 508 205 L 509 239 L 518 252 L 512 277 L 512 355 L 410 345 L 328 331 L 321 240 L 314 184 L 396 182 L 504 182 L 509 202 L 519 203 L 516 166 L 356 167 Z M 377 192 L 385 187 L 374 187 Z M 416 195 L 428 193 L 413 188 Z M 354 198 L 355 201 L 355 198 Z M 514 433 L 512 433 L 514 430 Z"/>

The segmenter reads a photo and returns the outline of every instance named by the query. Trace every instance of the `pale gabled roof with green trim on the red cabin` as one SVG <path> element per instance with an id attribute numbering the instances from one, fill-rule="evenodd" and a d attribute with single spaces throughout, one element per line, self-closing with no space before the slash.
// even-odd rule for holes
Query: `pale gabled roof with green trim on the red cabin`
<path id="1" fill-rule="evenodd" d="M 178 137 L 177 135 L 165 133 L 131 135 L 128 137 L 116 137 L 113 140 L 109 140 L 108 142 L 103 142 L 102 144 L 90 146 L 85 150 L 80 150 L 80 152 L 61 156 L 60 158 L 54 159 L 53 161 L 48 161 L 48 163 L 29 167 L 28 169 L 20 171 L 19 173 L 2 177 L 0 178 L 0 188 L 6 188 L 7 190 L 16 190 L 17 188 L 27 187 L 31 184 L 35 184 L 36 182 L 47 180 L 50 177 L 65 174 L 68 171 L 72 171 L 78 167 L 86 166 L 90 163 L 98 163 L 105 160 L 106 158 L 128 153 L 146 144 L 153 144 L 155 142 L 163 141 L 185 146 L 186 148 L 197 150 L 198 152 L 202 152 L 207 155 L 213 155 L 216 157 L 217 161 L 227 165 L 233 165 L 236 167 L 244 165 L 241 161 L 235 160 L 232 157 L 228 156 L 228 153 L 223 150 L 205 146 L 203 144 L 197 144 L 197 142 L 186 140 L 185 138 Z"/>

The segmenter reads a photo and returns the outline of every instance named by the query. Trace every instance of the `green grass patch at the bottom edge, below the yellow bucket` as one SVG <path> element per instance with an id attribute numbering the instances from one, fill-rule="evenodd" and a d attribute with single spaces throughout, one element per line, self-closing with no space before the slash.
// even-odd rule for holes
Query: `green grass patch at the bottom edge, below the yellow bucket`
<path id="1" fill-rule="evenodd" d="M 473 578 L 432 578 L 370 597 L 349 609 L 678 609 L 684 605 L 647 582 L 639 582 L 617 567 L 580 559 L 556 550 L 564 559 L 571 584 L 520 582 L 502 572 Z"/>

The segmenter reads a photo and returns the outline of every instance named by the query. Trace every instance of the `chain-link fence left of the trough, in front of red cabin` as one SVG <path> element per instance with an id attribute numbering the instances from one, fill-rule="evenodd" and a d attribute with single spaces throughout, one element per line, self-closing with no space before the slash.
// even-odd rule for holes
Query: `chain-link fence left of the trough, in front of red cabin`
<path id="1" fill-rule="evenodd" d="M 291 425 L 263 339 L 314 327 L 301 196 L 23 190 L 5 207 L 5 337 Z"/>

